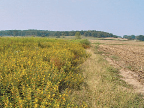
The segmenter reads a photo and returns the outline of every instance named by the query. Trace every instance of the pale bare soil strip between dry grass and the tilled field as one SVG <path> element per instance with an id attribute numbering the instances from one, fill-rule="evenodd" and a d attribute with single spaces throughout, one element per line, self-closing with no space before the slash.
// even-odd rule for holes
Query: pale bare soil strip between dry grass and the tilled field
<path id="1" fill-rule="evenodd" d="M 95 40 L 91 40 L 91 43 L 95 42 Z M 135 71 L 131 71 L 128 68 L 125 68 L 124 65 L 126 64 L 122 60 L 116 61 L 109 56 L 106 56 L 104 53 L 102 53 L 102 55 L 106 58 L 110 65 L 120 69 L 122 80 L 124 80 L 127 84 L 132 85 L 134 91 L 142 94 L 144 98 L 144 83 L 142 83 L 143 81 L 141 81 L 140 74 Z"/>

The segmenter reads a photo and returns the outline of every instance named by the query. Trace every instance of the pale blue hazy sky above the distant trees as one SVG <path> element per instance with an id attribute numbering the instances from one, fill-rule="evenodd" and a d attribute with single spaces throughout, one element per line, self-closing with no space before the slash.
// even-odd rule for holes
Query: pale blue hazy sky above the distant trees
<path id="1" fill-rule="evenodd" d="M 0 30 L 144 35 L 144 0 L 0 0 Z"/>

